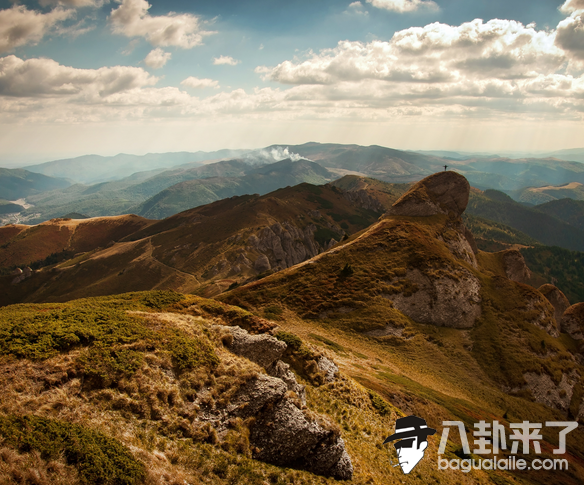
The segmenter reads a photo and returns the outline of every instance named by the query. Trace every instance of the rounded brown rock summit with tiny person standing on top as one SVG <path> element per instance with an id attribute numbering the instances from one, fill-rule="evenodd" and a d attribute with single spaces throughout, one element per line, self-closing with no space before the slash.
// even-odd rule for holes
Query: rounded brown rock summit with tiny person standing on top
<path id="1" fill-rule="evenodd" d="M 432 216 L 453 214 L 466 209 L 470 184 L 456 172 L 439 172 L 416 183 L 389 209 L 396 216 Z"/>

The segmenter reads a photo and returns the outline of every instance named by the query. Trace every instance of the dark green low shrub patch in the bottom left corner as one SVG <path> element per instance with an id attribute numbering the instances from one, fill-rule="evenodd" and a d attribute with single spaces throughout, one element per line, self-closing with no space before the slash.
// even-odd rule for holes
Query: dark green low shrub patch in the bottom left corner
<path id="1" fill-rule="evenodd" d="M 4 444 L 20 452 L 38 451 L 45 459 L 61 453 L 84 483 L 134 485 L 145 475 L 144 464 L 113 438 L 77 424 L 39 416 L 0 416 Z"/>

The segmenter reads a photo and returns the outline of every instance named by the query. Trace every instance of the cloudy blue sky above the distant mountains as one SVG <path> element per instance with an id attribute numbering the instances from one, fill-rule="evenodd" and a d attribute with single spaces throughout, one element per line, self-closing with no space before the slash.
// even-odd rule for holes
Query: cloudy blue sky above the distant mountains
<path id="1" fill-rule="evenodd" d="M 584 146 L 584 0 L 0 0 L 0 164 Z"/>

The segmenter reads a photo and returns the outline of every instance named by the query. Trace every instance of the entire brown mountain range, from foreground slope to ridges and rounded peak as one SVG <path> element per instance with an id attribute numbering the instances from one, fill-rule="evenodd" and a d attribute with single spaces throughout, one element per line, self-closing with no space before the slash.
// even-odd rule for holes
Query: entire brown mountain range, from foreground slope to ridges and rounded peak
<path id="1" fill-rule="evenodd" d="M 0 473 L 34 463 L 49 483 L 581 483 L 581 426 L 560 455 L 568 470 L 437 468 L 448 421 L 472 442 L 480 421 L 509 439 L 516 423 L 584 420 L 584 304 L 550 280 L 526 283 L 515 245 L 529 236 L 470 215 L 483 237 L 509 239 L 478 247 L 463 216 L 484 199 L 523 207 L 447 171 L 302 183 L 159 221 L 0 227 L 13 273 L 0 276 Z M 408 415 L 437 433 L 406 476 L 383 442 Z M 538 441 L 541 453 L 517 454 L 530 466 L 558 458 L 556 428 Z M 485 458 L 452 430 L 444 443 L 447 460 Z"/>

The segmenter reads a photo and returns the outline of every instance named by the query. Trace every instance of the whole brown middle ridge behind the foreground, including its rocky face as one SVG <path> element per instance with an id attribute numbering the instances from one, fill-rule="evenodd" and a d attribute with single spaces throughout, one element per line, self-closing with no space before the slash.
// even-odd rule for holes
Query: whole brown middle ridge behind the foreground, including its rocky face
<path id="1" fill-rule="evenodd" d="M 74 254 L 81 251 L 74 249 L 61 251 L 70 237 L 67 224 L 71 222 L 31 228 L 34 233 L 50 229 L 54 234 L 52 239 L 35 239 L 37 245 L 30 248 L 17 243 L 19 238 L 25 241 L 18 233 L 27 226 L 6 226 L 0 230 L 0 243 L 6 240 L 0 248 L 5 269 L 17 262 L 36 262 L 35 256 L 42 260 L 59 253 L 56 260 L 33 265 L 43 267 L 17 284 L 11 284 L 15 276 L 0 277 L 0 304 L 63 301 L 153 288 L 215 294 L 261 273 L 304 261 L 346 234 L 366 228 L 382 212 L 367 204 L 368 200 L 353 199 L 333 186 L 301 184 L 265 196 L 217 201 L 145 224 L 122 239 L 104 234 L 94 246 L 84 248 L 83 254 Z M 82 227 L 88 222 L 75 224 Z M 111 245 L 112 240 L 117 242 Z"/>

